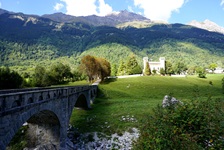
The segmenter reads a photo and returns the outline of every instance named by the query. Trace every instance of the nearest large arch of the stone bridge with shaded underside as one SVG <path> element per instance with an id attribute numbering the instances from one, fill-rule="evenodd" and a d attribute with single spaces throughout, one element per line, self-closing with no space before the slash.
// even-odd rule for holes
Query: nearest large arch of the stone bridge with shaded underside
<path id="1" fill-rule="evenodd" d="M 28 123 L 28 139 L 29 148 L 35 148 L 38 145 L 44 145 L 51 143 L 55 149 L 59 149 L 60 146 L 60 136 L 62 130 L 60 117 L 54 110 L 43 109 L 40 111 L 30 110 L 29 113 L 22 113 L 21 115 L 12 116 L 12 122 L 9 128 L 9 134 L 6 135 L 6 146 L 9 145 L 15 134 L 19 129 Z"/>

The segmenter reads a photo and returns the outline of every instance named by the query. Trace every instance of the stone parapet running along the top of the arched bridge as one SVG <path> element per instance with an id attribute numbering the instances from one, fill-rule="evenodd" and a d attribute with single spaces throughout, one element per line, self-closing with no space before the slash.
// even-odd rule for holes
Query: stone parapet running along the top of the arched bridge
<path id="1" fill-rule="evenodd" d="M 56 100 L 67 97 L 74 93 L 82 91 L 95 91 L 97 86 L 70 86 L 56 88 L 34 88 L 25 90 L 5 90 L 4 94 L 0 92 L 0 117 L 7 112 L 21 110 L 24 107 L 45 103 L 46 101 Z"/>

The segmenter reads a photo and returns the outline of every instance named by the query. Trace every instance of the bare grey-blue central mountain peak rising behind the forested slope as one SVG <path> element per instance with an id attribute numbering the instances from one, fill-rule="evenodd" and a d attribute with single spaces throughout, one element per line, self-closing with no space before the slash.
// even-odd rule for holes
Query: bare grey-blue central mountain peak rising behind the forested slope
<path id="1" fill-rule="evenodd" d="M 96 16 L 96 15 L 75 17 L 71 15 L 66 15 L 63 13 L 43 15 L 42 17 L 48 18 L 57 22 L 63 22 L 63 23 L 83 22 L 93 26 L 116 26 L 118 24 L 122 24 L 125 22 L 133 22 L 133 21 L 151 22 L 150 19 L 147 19 L 141 15 L 138 15 L 132 12 L 128 12 L 127 10 L 120 11 L 118 13 L 112 13 L 104 17 Z"/>

